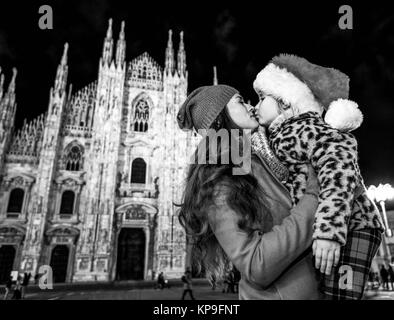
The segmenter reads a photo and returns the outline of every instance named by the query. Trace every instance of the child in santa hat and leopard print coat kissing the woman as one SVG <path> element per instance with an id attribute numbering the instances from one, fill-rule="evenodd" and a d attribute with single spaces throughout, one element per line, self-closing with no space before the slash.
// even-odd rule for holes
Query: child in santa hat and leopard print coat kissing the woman
<path id="1" fill-rule="evenodd" d="M 259 122 L 268 128 L 270 146 L 288 168 L 285 184 L 294 205 L 305 192 L 308 164 L 318 175 L 312 249 L 323 292 L 331 299 L 361 299 L 384 227 L 367 197 L 357 142 L 349 133 L 361 125 L 362 114 L 347 100 L 348 77 L 280 55 L 257 75 L 254 88 L 261 99 Z M 342 275 L 348 279 L 345 285 Z"/>

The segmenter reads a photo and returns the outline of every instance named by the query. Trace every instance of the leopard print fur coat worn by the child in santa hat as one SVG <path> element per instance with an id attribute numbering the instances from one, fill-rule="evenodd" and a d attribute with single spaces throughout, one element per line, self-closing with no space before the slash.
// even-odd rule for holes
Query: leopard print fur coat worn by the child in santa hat
<path id="1" fill-rule="evenodd" d="M 289 169 L 286 186 L 293 204 L 305 192 L 308 164 L 315 169 L 320 194 L 313 239 L 344 245 L 348 230 L 384 231 L 379 211 L 366 194 L 352 134 L 330 127 L 316 112 L 307 112 L 270 127 L 269 139 Z"/>

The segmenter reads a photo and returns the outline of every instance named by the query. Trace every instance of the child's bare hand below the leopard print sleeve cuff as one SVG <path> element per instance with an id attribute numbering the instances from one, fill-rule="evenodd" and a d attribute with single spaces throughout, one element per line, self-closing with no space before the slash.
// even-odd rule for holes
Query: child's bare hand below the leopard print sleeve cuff
<path id="1" fill-rule="evenodd" d="M 315 256 L 315 267 L 321 273 L 331 274 L 331 269 L 339 262 L 341 245 L 336 241 L 316 239 L 313 241 L 312 250 Z"/>

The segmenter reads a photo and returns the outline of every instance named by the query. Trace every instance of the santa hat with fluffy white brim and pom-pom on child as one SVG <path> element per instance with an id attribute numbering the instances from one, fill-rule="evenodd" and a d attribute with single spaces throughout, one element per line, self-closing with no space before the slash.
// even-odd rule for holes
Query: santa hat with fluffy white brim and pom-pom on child
<path id="1" fill-rule="evenodd" d="M 348 100 L 349 77 L 295 55 L 281 54 L 260 71 L 253 87 L 290 105 L 296 113 L 326 110 L 327 124 L 342 131 L 357 129 L 363 115 L 357 103 Z"/>

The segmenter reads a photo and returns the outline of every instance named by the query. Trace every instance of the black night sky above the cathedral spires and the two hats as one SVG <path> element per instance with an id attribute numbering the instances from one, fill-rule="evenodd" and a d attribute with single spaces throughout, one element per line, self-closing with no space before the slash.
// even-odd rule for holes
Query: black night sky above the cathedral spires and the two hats
<path id="1" fill-rule="evenodd" d="M 3 1 L 5 2 L 5 1 Z M 17 119 L 31 120 L 46 111 L 63 44 L 69 42 L 69 83 L 74 91 L 97 79 L 98 61 L 108 19 L 117 38 L 126 21 L 127 60 L 147 51 L 164 65 L 168 29 L 185 32 L 189 92 L 212 83 L 218 68 L 220 83 L 238 88 L 257 102 L 252 82 L 278 53 L 301 55 L 335 67 L 350 78 L 351 99 L 365 115 L 354 132 L 366 184 L 394 185 L 394 10 L 369 4 L 326 1 L 290 5 L 283 1 L 7 1 L 0 9 L 0 66 L 6 84 L 18 68 Z M 164 1 L 162 1 L 164 2 Z M 161 3 L 162 3 L 161 2 Z M 259 3 L 257 6 L 256 3 Z M 50 4 L 54 29 L 38 27 L 38 8 Z M 350 4 L 354 29 L 340 30 L 338 9 Z"/>

